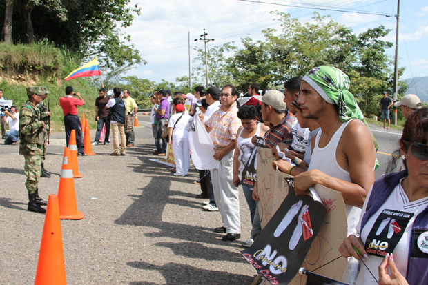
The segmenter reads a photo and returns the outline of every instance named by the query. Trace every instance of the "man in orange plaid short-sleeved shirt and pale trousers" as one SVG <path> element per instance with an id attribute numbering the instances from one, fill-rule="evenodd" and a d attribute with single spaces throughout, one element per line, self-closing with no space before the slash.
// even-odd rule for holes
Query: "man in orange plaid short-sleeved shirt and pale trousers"
<path id="1" fill-rule="evenodd" d="M 241 237 L 240 200 L 238 188 L 233 185 L 233 153 L 237 130 L 241 126 L 237 117 L 236 99 L 239 92 L 227 84 L 220 93 L 220 109 L 206 121 L 205 128 L 215 146 L 214 158 L 220 161 L 218 169 L 211 170 L 215 202 L 222 215 L 223 226 L 216 233 L 226 233 L 224 241 Z M 204 114 L 200 114 L 202 123 Z"/>

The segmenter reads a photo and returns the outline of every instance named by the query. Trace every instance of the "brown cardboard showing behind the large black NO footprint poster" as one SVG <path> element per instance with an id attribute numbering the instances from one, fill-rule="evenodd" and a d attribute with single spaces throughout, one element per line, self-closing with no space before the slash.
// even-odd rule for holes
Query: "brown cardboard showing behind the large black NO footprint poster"
<path id="1" fill-rule="evenodd" d="M 273 170 L 272 162 L 274 157 L 271 149 L 259 147 L 257 148 L 257 156 L 259 213 L 260 223 L 264 228 L 289 193 L 288 186 L 286 186 L 284 179 L 281 179 L 281 177 L 291 177 L 291 175 L 282 173 L 279 170 Z M 322 204 L 324 204 L 327 215 L 302 266 L 309 271 L 322 266 L 315 273 L 340 280 L 347 262 L 342 258 L 334 262 L 331 262 L 331 260 L 340 256 L 338 248 L 343 239 L 347 237 L 347 216 L 342 193 L 319 184 L 315 184 L 313 188 L 318 197 L 320 197 Z M 327 264 L 328 262 L 331 263 Z M 292 285 L 305 283 L 305 275 L 296 275 L 290 282 Z"/>

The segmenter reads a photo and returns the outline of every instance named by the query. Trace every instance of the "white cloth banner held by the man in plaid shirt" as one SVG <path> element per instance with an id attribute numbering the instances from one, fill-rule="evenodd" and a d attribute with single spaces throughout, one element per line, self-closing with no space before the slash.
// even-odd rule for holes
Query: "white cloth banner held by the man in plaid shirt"
<path id="1" fill-rule="evenodd" d="M 214 144 L 198 117 L 199 113 L 198 110 L 195 117 L 189 122 L 188 128 L 188 142 L 191 145 L 193 165 L 199 170 L 217 169 L 220 161 L 213 157 Z"/>

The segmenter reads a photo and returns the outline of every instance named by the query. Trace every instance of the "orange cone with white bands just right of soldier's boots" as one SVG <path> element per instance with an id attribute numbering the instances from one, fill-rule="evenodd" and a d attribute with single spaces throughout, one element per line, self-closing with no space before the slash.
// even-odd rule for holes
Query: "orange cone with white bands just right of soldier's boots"
<path id="1" fill-rule="evenodd" d="M 75 179 L 72 175 L 70 161 L 70 148 L 64 148 L 62 160 L 61 178 L 59 179 L 59 218 L 60 219 L 83 219 L 84 214 L 77 210 Z"/>

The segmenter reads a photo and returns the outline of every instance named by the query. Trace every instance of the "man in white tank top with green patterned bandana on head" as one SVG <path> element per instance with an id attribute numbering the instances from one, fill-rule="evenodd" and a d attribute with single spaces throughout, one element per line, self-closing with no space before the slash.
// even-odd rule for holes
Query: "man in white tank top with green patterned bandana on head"
<path id="1" fill-rule="evenodd" d="M 348 235 L 355 233 L 361 207 L 374 182 L 373 137 L 349 88 L 349 77 L 331 66 L 313 68 L 302 79 L 297 103 L 304 118 L 321 130 L 312 141 L 307 172 L 295 175 L 296 193 L 321 184 L 343 195 Z M 361 121 L 363 120 L 363 121 Z"/>

